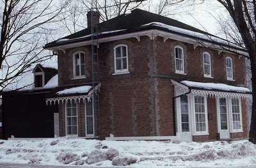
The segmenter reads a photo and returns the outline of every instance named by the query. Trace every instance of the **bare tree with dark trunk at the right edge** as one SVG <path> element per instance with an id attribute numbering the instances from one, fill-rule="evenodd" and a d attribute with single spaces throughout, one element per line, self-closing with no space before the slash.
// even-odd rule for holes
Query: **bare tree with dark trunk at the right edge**
<path id="1" fill-rule="evenodd" d="M 256 1 L 255 0 L 217 0 L 228 11 L 243 45 L 248 50 L 250 69 L 252 72 L 252 121 L 249 141 L 256 144 Z"/>

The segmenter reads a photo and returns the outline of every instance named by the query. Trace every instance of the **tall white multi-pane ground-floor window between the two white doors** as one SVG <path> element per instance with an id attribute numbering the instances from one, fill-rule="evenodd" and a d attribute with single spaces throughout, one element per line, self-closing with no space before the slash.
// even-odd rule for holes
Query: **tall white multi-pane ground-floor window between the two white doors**
<path id="1" fill-rule="evenodd" d="M 205 97 L 196 95 L 195 96 L 195 130 L 196 132 L 207 131 L 207 113 L 205 108 Z"/>

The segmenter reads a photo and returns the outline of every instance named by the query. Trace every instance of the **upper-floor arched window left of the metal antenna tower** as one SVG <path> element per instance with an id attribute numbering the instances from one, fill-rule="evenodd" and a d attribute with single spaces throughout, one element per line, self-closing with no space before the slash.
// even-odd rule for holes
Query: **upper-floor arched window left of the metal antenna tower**
<path id="1" fill-rule="evenodd" d="M 74 78 L 85 77 L 85 54 L 76 52 L 73 55 Z"/>

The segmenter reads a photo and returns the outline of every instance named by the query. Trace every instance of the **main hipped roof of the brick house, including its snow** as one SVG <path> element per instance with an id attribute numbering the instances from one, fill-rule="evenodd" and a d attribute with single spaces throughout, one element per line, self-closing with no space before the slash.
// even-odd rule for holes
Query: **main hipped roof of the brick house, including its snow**
<path id="1" fill-rule="evenodd" d="M 188 24 L 184 24 L 172 18 L 163 17 L 161 15 L 140 9 L 132 10 L 129 14 L 120 15 L 118 17 L 107 20 L 106 22 L 98 24 L 97 36 L 98 38 L 104 38 L 120 34 L 128 34 L 131 32 L 146 31 L 150 29 L 172 32 L 181 36 L 208 41 L 210 43 L 214 41 L 214 43 L 220 43 L 221 45 L 228 47 L 230 47 L 231 44 L 225 39 L 218 38 L 217 36 L 209 34 L 205 31 L 201 31 L 200 29 L 196 29 L 195 27 L 192 27 Z M 212 40 L 212 38 L 214 39 Z M 56 46 L 79 43 L 82 41 L 90 41 L 91 39 L 91 28 L 87 28 L 83 29 L 82 31 L 75 32 L 74 34 L 65 36 L 64 38 L 58 39 L 56 41 L 52 41 L 51 43 L 47 43 L 44 48 L 51 49 Z M 244 48 L 234 44 L 232 44 L 231 47 L 244 50 Z M 244 51 L 246 52 L 246 50 Z"/>

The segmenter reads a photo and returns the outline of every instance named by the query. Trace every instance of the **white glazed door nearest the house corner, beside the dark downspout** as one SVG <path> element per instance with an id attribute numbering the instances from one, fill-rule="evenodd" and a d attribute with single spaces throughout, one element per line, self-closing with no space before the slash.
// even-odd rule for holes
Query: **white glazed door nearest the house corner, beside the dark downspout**
<path id="1" fill-rule="evenodd" d="M 179 98 L 179 101 L 177 101 L 177 109 L 178 109 L 178 124 L 179 124 L 179 133 L 180 138 L 184 141 L 191 141 L 191 129 L 190 129 L 190 122 L 189 122 L 189 100 L 188 95 L 182 95 Z"/>

